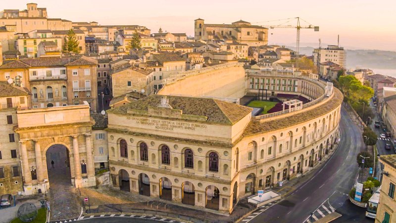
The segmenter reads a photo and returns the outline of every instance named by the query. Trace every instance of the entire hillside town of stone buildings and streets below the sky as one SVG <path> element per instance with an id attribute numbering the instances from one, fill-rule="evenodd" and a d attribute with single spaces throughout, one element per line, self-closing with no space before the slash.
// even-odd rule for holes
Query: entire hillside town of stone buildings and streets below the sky
<path id="1" fill-rule="evenodd" d="M 41 6 L 0 12 L 0 222 L 396 222 L 396 78 L 340 43 Z"/>

